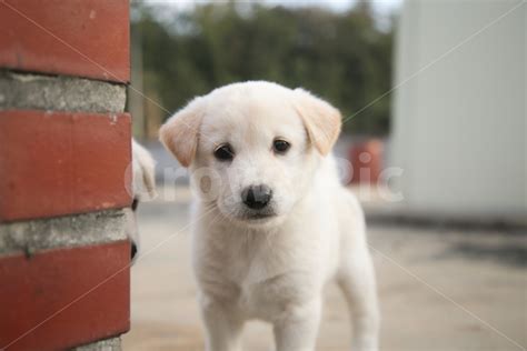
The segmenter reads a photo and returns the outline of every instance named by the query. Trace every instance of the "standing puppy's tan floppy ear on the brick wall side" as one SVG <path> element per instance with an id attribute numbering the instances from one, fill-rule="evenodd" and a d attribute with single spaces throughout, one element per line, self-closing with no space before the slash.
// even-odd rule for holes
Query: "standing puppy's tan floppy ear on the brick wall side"
<path id="1" fill-rule="evenodd" d="M 189 167 L 196 156 L 203 108 L 203 98 L 196 98 L 159 130 L 159 139 L 183 167 Z"/>

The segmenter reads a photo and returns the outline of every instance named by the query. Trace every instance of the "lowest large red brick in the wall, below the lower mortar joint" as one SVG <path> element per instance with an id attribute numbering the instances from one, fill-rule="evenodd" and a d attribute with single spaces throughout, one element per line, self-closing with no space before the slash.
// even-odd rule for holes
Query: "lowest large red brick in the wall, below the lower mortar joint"
<path id="1" fill-rule="evenodd" d="M 57 350 L 130 327 L 130 244 L 0 257 L 0 349 Z"/>

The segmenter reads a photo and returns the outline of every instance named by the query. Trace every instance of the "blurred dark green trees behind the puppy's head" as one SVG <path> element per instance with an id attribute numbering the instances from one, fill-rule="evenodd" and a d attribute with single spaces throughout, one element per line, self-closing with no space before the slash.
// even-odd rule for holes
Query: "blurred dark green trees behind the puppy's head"
<path id="1" fill-rule="evenodd" d="M 165 118 L 198 94 L 243 80 L 304 87 L 338 107 L 344 129 L 389 130 L 392 30 L 380 30 L 367 1 L 346 12 L 258 3 L 206 3 L 166 20 L 167 8 L 135 4 L 145 90 Z M 166 14 L 167 12 L 165 12 Z"/>

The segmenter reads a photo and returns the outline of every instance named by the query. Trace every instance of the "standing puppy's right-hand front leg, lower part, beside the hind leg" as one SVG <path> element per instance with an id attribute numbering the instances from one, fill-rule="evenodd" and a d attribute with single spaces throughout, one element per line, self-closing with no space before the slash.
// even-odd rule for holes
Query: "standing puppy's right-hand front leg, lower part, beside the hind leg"
<path id="1" fill-rule="evenodd" d="M 274 323 L 277 351 L 312 351 L 320 323 L 321 300 L 287 308 L 284 317 Z"/>

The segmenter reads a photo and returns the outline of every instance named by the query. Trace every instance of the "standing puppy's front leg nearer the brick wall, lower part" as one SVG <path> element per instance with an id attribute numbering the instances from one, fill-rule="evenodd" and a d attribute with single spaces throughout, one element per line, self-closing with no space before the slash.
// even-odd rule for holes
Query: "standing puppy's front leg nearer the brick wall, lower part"
<path id="1" fill-rule="evenodd" d="M 200 297 L 207 351 L 239 351 L 243 321 L 229 302 Z"/>

